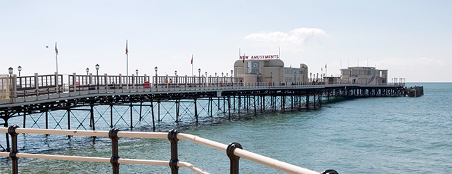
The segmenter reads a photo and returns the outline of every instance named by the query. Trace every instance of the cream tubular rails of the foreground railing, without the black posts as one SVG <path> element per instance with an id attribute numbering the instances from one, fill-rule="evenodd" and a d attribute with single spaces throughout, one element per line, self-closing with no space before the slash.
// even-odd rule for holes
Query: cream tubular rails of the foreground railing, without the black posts
<path id="1" fill-rule="evenodd" d="M 55 135 L 69 135 L 69 136 L 104 136 L 112 137 L 111 132 L 114 129 L 108 131 L 88 131 L 88 130 L 63 130 L 63 129 L 33 129 L 33 128 L 19 128 L 15 125 L 7 128 L 0 127 L 0 132 L 11 134 L 11 128 L 15 128 L 15 134 L 55 134 Z M 9 132 L 8 132 L 9 129 Z M 171 133 L 171 132 L 170 132 Z M 13 134 L 12 134 L 13 135 Z M 144 139 L 169 139 L 169 133 L 166 132 L 116 132 L 116 136 L 128 137 L 128 138 L 144 138 Z M 218 143 L 216 141 L 211 141 L 209 139 L 201 138 L 200 136 L 195 136 L 191 134 L 176 133 L 177 139 L 192 141 L 193 143 L 201 144 L 209 148 L 214 148 L 216 150 L 221 150 L 227 152 L 229 148 L 228 145 L 223 143 Z M 112 139 L 112 138 L 111 138 Z M 177 151 L 176 151 L 177 152 Z M 15 157 L 22 158 L 37 158 L 37 159 L 58 159 L 58 160 L 70 160 L 70 161 L 92 161 L 92 162 L 104 162 L 111 163 L 110 158 L 104 157 L 79 157 L 79 156 L 66 156 L 66 155 L 42 155 L 42 154 L 29 154 L 14 152 Z M 243 157 L 250 161 L 254 161 L 258 164 L 263 164 L 265 166 L 275 168 L 278 171 L 283 171 L 286 173 L 305 173 L 305 174 L 318 174 L 316 171 L 309 170 L 307 168 L 302 168 L 295 166 L 293 164 L 288 164 L 277 159 L 272 159 L 270 157 L 265 157 L 263 155 L 258 155 L 254 152 L 249 152 L 247 150 L 242 150 L 241 148 L 234 148 L 232 153 L 237 157 Z M 0 152 L 0 156 L 11 157 L 10 152 Z M 228 155 L 229 156 L 229 155 Z M 146 159 L 118 159 L 118 164 L 143 164 L 143 165 L 154 165 L 154 166 L 170 166 L 170 161 L 159 161 L 159 160 L 146 160 Z M 207 173 L 193 164 L 189 164 L 184 161 L 177 161 L 178 167 L 190 168 L 196 173 Z"/>

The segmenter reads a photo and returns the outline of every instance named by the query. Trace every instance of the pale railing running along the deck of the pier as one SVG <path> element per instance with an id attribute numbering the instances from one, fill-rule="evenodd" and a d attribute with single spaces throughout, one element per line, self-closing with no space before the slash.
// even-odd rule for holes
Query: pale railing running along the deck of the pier
<path id="1" fill-rule="evenodd" d="M 301 88 L 310 86 L 334 86 L 334 85 L 354 85 L 350 81 L 323 81 L 318 79 L 308 79 L 309 82 L 252 82 L 243 83 L 243 77 L 187 77 L 187 76 L 131 76 L 118 75 L 67 75 L 67 83 L 63 83 L 62 74 L 38 75 L 17 77 L 0 76 L 0 101 L 4 103 L 14 103 L 21 100 L 35 97 L 35 100 L 47 99 L 51 95 L 58 97 L 73 96 L 92 93 L 134 93 L 153 91 L 175 91 L 175 90 L 221 90 L 221 89 L 247 89 L 247 88 Z M 385 83 L 378 86 L 404 86 L 404 83 Z M 364 84 L 364 86 L 369 86 Z M 10 100 L 5 102 L 4 100 Z"/>

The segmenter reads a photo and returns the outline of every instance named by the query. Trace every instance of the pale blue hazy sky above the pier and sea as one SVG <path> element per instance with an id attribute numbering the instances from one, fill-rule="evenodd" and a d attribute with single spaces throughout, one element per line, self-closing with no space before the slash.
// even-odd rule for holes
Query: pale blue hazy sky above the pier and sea
<path id="1" fill-rule="evenodd" d="M 0 74 L 225 74 L 239 54 L 452 82 L 452 1 L 3 1 Z M 48 48 L 47 48 L 47 47 Z M 239 51 L 240 50 L 240 51 Z"/>

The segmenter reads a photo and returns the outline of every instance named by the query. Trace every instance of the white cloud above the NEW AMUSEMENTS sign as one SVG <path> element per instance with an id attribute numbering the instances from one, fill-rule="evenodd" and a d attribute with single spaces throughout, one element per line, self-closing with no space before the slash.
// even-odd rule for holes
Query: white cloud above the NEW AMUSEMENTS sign
<path id="1" fill-rule="evenodd" d="M 287 47 L 293 51 L 301 51 L 302 47 L 321 38 L 328 37 L 328 34 L 321 29 L 301 28 L 293 29 L 288 33 L 276 31 L 270 33 L 252 33 L 245 36 L 246 40 L 258 42 L 257 45 L 264 47 Z"/>

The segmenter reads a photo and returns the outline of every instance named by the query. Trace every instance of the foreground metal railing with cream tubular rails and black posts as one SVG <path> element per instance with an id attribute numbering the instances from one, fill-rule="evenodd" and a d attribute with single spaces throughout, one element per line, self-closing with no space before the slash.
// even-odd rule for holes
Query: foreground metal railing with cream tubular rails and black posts
<path id="1" fill-rule="evenodd" d="M 275 168 L 279 171 L 286 173 L 305 173 L 305 174 L 318 174 L 316 171 L 311 171 L 307 168 L 301 168 L 294 166 L 283 161 L 278 161 L 263 155 L 258 155 L 247 150 L 243 150 L 239 143 L 230 143 L 225 145 L 209 139 L 203 139 L 199 136 L 191 134 L 183 134 L 177 132 L 177 130 L 171 130 L 170 132 L 120 132 L 119 129 L 113 128 L 110 131 L 82 131 L 82 130 L 56 130 L 56 129 L 29 129 L 19 128 L 17 125 L 12 125 L 8 128 L 0 127 L 0 132 L 10 134 L 12 149 L 10 152 L 0 152 L 0 156 L 10 157 L 12 162 L 13 173 L 19 173 L 18 158 L 33 158 L 33 159 L 56 159 L 56 160 L 68 160 L 68 161 L 90 161 L 90 162 L 102 162 L 111 163 L 113 167 L 113 173 L 119 173 L 120 164 L 142 164 L 153 166 L 170 166 L 171 173 L 178 173 L 179 167 L 189 168 L 195 173 L 208 173 L 201 168 L 193 166 L 184 161 L 177 159 L 177 141 L 188 140 L 193 143 L 199 143 L 209 148 L 221 150 L 226 152 L 227 157 L 231 161 L 230 173 L 239 173 L 239 159 L 241 157 L 256 163 L 263 164 L 265 166 Z M 54 134 L 54 135 L 67 135 L 67 136 L 104 136 L 111 139 L 112 156 L 106 157 L 80 157 L 80 156 L 67 156 L 67 155 L 42 155 L 31 153 L 20 153 L 17 150 L 17 134 Z M 141 138 L 141 139 L 169 139 L 171 143 L 171 159 L 170 161 L 161 160 L 148 160 L 148 159 L 123 159 L 118 155 L 118 141 L 122 137 L 127 138 Z M 337 173 L 334 170 L 323 171 L 321 174 L 334 174 Z"/>

